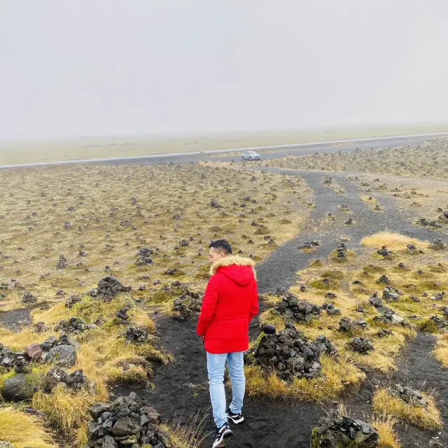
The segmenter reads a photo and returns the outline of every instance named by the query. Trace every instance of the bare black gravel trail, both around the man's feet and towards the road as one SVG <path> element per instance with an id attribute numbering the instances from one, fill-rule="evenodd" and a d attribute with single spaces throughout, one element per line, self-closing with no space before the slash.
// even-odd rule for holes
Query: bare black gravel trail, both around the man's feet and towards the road
<path id="1" fill-rule="evenodd" d="M 412 226 L 405 216 L 395 207 L 393 198 L 375 193 L 375 197 L 386 208 L 383 213 L 371 211 L 367 204 L 359 197 L 365 195 L 356 184 L 346 181 L 347 174 L 330 175 L 344 186 L 345 195 L 337 195 L 330 188 L 321 184 L 322 177 L 328 175 L 323 172 L 297 172 L 294 170 L 269 169 L 272 172 L 283 172 L 294 176 L 299 174 L 314 190 L 316 211 L 305 232 L 288 243 L 279 247 L 272 255 L 257 267 L 260 292 L 275 290 L 278 287 L 288 288 L 296 279 L 295 272 L 306 267 L 311 258 L 325 257 L 332 251 L 340 235 L 350 238 L 348 246 L 357 246 L 360 239 L 379 230 L 400 232 L 419 239 L 436 239 L 440 233 Z M 346 204 L 353 212 L 347 215 L 340 211 L 339 206 Z M 331 212 L 336 220 L 328 225 L 326 214 Z M 345 225 L 349 217 L 353 218 L 353 225 Z M 446 236 L 446 235 L 444 235 Z M 302 253 L 297 250 L 298 244 L 304 240 L 319 239 L 321 246 L 317 252 Z M 209 412 L 209 392 L 207 387 L 207 368 L 205 353 L 200 339 L 195 335 L 195 321 L 179 323 L 166 317 L 154 316 L 161 345 L 174 354 L 173 363 L 156 368 L 154 374 L 155 388 L 149 391 L 137 391 L 170 418 L 174 414 L 183 414 L 183 421 L 187 416 L 200 411 Z M 423 334 L 409 342 L 408 348 L 400 354 L 398 372 L 389 379 L 407 383 L 412 381 L 416 387 L 437 387 L 440 398 L 448 395 L 448 378 L 446 370 L 435 360 L 430 351 L 434 339 Z M 379 381 L 386 381 L 386 377 L 377 374 L 368 375 L 367 380 L 359 391 L 346 396 L 345 402 L 352 412 L 362 416 L 371 412 L 368 400 L 372 396 L 372 387 Z M 118 395 L 127 393 L 128 388 L 119 388 Z M 248 448 L 305 448 L 309 447 L 311 429 L 316 426 L 318 419 L 324 414 L 324 408 L 331 405 L 316 405 L 304 402 L 288 402 L 283 400 L 260 400 L 247 398 L 244 414 L 247 421 L 235 428 L 235 437 L 228 447 Z M 447 407 L 440 402 L 444 421 L 448 420 Z M 207 416 L 207 430 L 214 429 L 211 412 Z M 426 447 L 431 435 L 414 427 L 399 428 L 400 438 L 404 447 Z M 204 442 L 209 446 L 210 437 Z M 441 435 L 443 442 L 448 442 L 447 433 Z"/>

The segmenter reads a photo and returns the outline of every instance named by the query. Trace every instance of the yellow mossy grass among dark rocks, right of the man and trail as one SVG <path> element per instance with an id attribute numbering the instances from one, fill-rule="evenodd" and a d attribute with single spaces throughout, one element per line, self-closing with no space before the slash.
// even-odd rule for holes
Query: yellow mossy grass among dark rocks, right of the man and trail
<path id="1" fill-rule="evenodd" d="M 408 244 L 414 244 L 416 251 L 409 250 Z M 392 255 L 382 257 L 377 253 L 377 249 L 384 245 L 393 251 Z M 302 400 L 325 402 L 337 398 L 347 386 L 359 384 L 365 377 L 363 370 L 366 368 L 384 373 L 396 370 L 395 356 L 405 346 L 407 339 L 415 336 L 416 328 L 442 336 L 435 325 L 431 325 L 430 317 L 442 316 L 433 296 L 448 288 L 448 264 L 444 251 L 433 251 L 428 246 L 426 241 L 380 232 L 363 239 L 361 248 L 346 262 L 339 262 L 330 254 L 327 260 L 312 263 L 309 268 L 298 272 L 300 281 L 290 288 L 291 293 L 314 304 L 332 303 L 341 310 L 341 314 L 329 316 L 323 312 L 318 320 L 307 324 L 297 323 L 295 326 L 309 339 L 318 335 L 328 337 L 337 347 L 339 358 L 332 360 L 323 357 L 323 377 L 309 381 L 295 380 L 290 385 L 280 381 L 276 374 L 265 377 L 259 367 L 246 367 L 248 392 L 252 395 L 288 395 Z M 419 249 L 424 249 L 424 253 L 419 253 Z M 381 297 L 385 286 L 379 280 L 381 275 L 386 275 L 387 283 L 402 291 L 399 300 L 384 301 L 384 306 L 392 309 L 410 325 L 386 324 L 374 319 L 378 312 L 368 299 L 375 292 Z M 300 286 L 305 286 L 307 290 L 303 292 Z M 335 297 L 329 299 L 325 297 L 327 293 L 334 293 Z M 268 300 L 274 305 L 281 297 L 273 295 Z M 358 311 L 358 307 L 363 311 Z M 358 330 L 356 334 L 338 331 L 338 322 L 343 316 L 352 321 L 364 319 L 370 327 Z M 274 314 L 273 309 L 265 311 L 260 320 L 273 323 L 277 329 L 284 328 L 283 317 Z M 381 329 L 392 330 L 393 333 L 379 337 Z M 360 354 L 347 349 L 346 342 L 353 335 L 370 339 L 374 350 Z M 446 357 L 443 344 L 441 340 L 439 350 L 435 353 L 440 360 Z"/>

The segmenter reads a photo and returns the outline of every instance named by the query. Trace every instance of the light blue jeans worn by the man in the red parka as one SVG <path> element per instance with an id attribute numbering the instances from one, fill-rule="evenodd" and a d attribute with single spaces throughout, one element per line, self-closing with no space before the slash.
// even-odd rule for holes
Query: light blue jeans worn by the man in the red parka
<path id="1" fill-rule="evenodd" d="M 244 391 L 246 390 L 246 377 L 244 377 L 243 351 L 233 353 L 214 354 L 207 352 L 207 370 L 209 372 L 210 400 L 213 407 L 213 418 L 217 428 L 227 423 L 225 414 L 224 371 L 225 361 L 232 381 L 232 402 L 229 409 L 235 414 L 241 412 L 243 407 Z"/>

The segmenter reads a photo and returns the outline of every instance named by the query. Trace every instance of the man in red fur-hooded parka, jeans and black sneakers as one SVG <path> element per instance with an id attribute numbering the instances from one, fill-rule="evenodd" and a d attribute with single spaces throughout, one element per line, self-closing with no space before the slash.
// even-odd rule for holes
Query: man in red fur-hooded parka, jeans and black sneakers
<path id="1" fill-rule="evenodd" d="M 202 300 L 197 334 L 207 351 L 210 398 L 216 423 L 213 448 L 232 437 L 228 420 L 242 423 L 246 378 L 243 354 L 248 349 L 248 326 L 258 314 L 258 291 L 253 260 L 232 256 L 225 239 L 209 246 L 211 278 Z M 224 371 L 227 362 L 232 381 L 232 402 L 225 409 Z"/>

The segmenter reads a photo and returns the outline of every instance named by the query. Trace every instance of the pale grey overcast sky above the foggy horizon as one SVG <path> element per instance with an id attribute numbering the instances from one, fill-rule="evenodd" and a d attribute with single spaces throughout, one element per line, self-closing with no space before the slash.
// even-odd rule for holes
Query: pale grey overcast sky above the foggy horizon
<path id="1" fill-rule="evenodd" d="M 448 120 L 447 0 L 0 0 L 0 139 Z"/>

